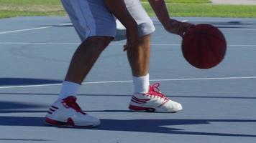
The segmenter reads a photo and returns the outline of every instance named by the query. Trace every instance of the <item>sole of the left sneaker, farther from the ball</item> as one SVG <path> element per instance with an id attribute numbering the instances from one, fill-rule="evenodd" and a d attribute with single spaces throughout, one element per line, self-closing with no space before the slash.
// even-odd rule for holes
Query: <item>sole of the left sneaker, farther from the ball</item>
<path id="1" fill-rule="evenodd" d="M 81 128 L 96 127 L 95 125 L 76 125 L 74 124 L 71 118 L 68 118 L 68 122 L 60 122 L 54 119 L 45 118 L 45 123 L 50 124 L 52 126 L 58 126 L 58 127 L 81 127 Z"/>

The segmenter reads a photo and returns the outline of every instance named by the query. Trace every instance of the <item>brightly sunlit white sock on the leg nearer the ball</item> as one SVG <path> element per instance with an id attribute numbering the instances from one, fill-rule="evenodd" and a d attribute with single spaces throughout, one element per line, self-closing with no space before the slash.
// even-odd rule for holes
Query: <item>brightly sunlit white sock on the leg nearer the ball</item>
<path id="1" fill-rule="evenodd" d="M 150 88 L 150 74 L 133 77 L 134 93 L 147 93 Z"/>

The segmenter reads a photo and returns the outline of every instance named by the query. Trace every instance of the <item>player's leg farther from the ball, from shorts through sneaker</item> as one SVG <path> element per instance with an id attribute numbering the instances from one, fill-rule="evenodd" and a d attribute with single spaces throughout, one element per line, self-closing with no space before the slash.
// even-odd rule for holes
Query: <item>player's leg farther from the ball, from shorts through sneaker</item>
<path id="1" fill-rule="evenodd" d="M 76 95 L 101 51 L 114 39 L 116 24 L 103 0 L 62 0 L 62 3 L 83 43 L 73 55 L 59 98 L 50 106 L 45 120 L 56 126 L 95 127 L 100 120 L 83 112 Z"/>

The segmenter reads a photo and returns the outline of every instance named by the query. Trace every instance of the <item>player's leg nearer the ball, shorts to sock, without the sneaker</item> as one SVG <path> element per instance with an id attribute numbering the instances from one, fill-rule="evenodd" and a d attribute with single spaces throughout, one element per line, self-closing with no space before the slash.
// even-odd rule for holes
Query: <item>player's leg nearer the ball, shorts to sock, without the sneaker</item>
<path id="1" fill-rule="evenodd" d="M 147 93 L 150 87 L 150 37 L 155 26 L 139 0 L 124 0 L 127 9 L 138 24 L 140 43 L 137 47 L 127 49 L 129 64 L 132 68 L 134 93 Z"/>

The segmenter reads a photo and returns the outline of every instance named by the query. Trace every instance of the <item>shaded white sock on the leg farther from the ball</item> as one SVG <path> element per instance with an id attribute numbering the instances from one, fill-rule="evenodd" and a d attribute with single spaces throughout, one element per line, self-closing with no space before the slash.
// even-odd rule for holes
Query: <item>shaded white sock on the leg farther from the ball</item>
<path id="1" fill-rule="evenodd" d="M 61 87 L 58 99 L 65 99 L 70 96 L 76 97 L 80 87 L 81 87 L 81 84 L 77 84 L 75 82 L 64 81 L 63 86 Z"/>

